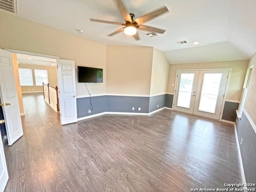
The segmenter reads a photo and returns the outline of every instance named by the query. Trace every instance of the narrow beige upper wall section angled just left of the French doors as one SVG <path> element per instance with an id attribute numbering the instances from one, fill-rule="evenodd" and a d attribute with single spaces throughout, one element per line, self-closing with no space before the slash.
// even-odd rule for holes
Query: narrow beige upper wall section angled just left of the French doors
<path id="1" fill-rule="evenodd" d="M 166 93 L 169 74 L 169 62 L 164 52 L 154 48 L 150 95 Z"/>

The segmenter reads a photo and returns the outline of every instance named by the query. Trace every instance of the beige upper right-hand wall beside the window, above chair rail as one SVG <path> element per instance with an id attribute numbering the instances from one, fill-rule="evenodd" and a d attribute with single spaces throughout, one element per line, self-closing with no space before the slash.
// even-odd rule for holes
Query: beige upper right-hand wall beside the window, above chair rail
<path id="1" fill-rule="evenodd" d="M 248 68 L 252 65 L 254 65 L 254 68 L 252 70 L 252 76 L 250 78 L 244 109 L 249 114 L 254 124 L 256 124 L 256 53 L 250 59 L 248 63 Z"/>

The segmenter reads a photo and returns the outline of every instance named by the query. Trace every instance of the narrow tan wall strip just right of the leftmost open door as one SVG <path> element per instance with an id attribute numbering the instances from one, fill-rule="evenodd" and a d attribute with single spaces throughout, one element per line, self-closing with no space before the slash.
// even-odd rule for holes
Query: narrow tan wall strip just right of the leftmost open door
<path id="1" fill-rule="evenodd" d="M 18 101 L 19 101 L 19 106 L 20 106 L 20 114 L 24 114 L 24 106 L 23 106 L 23 99 L 22 99 L 22 93 L 21 93 L 22 90 L 21 90 L 21 86 L 20 86 L 17 55 L 14 53 L 12 53 L 12 63 L 13 63 L 14 78 L 15 78 L 15 82 L 16 82 Z"/>

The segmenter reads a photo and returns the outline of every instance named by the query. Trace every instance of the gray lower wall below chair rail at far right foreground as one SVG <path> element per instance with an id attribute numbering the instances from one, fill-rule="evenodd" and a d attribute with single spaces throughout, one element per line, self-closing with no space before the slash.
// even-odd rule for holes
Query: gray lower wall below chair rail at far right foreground
<path id="1" fill-rule="evenodd" d="M 246 183 L 256 184 L 256 130 L 254 130 L 244 112 L 242 113 L 241 119 L 237 118 L 236 132 Z M 255 188 L 255 186 L 248 186 L 247 188 Z"/>

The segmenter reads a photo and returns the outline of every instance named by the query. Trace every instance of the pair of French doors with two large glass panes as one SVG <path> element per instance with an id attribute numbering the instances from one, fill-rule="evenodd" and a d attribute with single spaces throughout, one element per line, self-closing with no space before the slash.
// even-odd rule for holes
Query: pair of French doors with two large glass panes
<path id="1" fill-rule="evenodd" d="M 178 71 L 174 110 L 220 119 L 229 70 Z"/>

